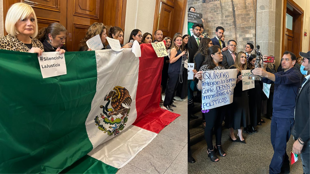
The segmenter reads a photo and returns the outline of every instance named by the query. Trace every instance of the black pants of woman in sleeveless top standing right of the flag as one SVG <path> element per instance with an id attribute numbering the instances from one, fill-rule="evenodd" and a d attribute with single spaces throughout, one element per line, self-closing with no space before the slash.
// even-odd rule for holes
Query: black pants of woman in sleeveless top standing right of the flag
<path id="1" fill-rule="evenodd" d="M 164 100 L 165 107 L 172 104 L 173 98 L 175 96 L 175 89 L 177 88 L 178 83 L 179 83 L 179 77 L 180 77 L 180 74 L 169 73 L 169 80 L 168 80 L 167 89 L 165 92 L 165 100 Z"/>

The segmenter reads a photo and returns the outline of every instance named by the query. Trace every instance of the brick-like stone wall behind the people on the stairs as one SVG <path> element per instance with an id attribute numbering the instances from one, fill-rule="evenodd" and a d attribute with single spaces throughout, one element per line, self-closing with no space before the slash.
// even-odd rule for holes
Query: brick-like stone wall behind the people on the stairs
<path id="1" fill-rule="evenodd" d="M 204 30 L 215 37 L 215 28 L 225 29 L 225 43 L 237 41 L 237 52 L 245 51 L 247 42 L 256 44 L 256 0 L 220 0 L 202 3 L 202 0 L 188 0 L 188 7 L 195 7 L 202 13 Z M 254 50 L 253 50 L 254 51 Z"/>

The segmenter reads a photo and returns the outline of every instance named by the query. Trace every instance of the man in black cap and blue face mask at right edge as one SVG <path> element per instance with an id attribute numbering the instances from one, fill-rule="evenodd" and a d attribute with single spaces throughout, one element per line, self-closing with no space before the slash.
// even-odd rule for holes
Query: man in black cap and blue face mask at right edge
<path id="1" fill-rule="evenodd" d="M 295 143 L 293 145 L 294 154 L 300 154 L 302 163 L 303 163 L 303 171 L 304 173 L 310 173 L 310 133 L 309 133 L 309 77 L 310 77 L 310 51 L 308 53 L 299 52 L 299 55 L 303 57 L 303 63 L 301 64 L 304 68 L 300 69 L 303 75 L 306 75 L 303 79 L 303 83 L 301 85 L 301 89 L 296 99 L 295 106 L 295 124 L 294 124 L 294 132 L 295 135 Z M 297 64 L 297 63 L 296 63 Z"/>

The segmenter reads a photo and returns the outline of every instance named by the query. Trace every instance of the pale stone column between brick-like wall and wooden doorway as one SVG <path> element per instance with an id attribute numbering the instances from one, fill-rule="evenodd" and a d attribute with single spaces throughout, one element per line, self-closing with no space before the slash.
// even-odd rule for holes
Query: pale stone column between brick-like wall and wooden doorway
<path id="1" fill-rule="evenodd" d="M 281 14 L 282 0 L 257 0 L 256 44 L 262 54 L 274 55 L 276 65 L 281 60 Z"/>

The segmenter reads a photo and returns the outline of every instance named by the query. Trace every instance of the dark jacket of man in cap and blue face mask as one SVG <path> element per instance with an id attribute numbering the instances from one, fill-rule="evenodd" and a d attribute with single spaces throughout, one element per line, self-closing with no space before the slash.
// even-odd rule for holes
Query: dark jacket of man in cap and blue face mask
<path id="1" fill-rule="evenodd" d="M 300 137 L 305 142 L 309 141 L 310 139 L 309 106 L 310 106 L 310 80 L 307 80 L 303 85 L 303 87 L 300 89 L 300 92 L 296 99 L 295 124 L 294 124 L 296 137 Z"/>

